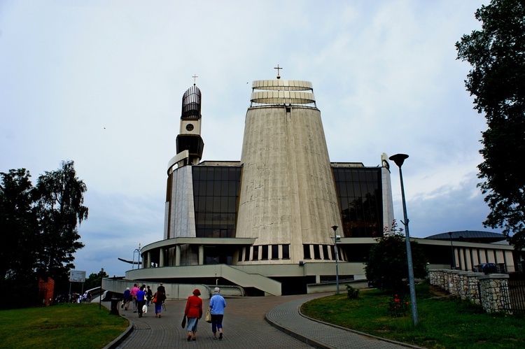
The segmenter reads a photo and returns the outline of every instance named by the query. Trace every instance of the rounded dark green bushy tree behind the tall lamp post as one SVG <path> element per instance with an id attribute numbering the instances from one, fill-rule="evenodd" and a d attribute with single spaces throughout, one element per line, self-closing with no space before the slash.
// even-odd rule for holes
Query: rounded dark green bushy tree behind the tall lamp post
<path id="1" fill-rule="evenodd" d="M 372 245 L 365 262 L 365 274 L 375 287 L 392 292 L 392 294 L 407 294 L 408 292 L 408 262 L 407 243 L 405 235 L 397 230 L 393 221 L 390 232 L 377 238 Z M 412 265 L 415 278 L 425 278 L 427 274 L 426 259 L 423 250 L 416 241 L 410 241 L 412 250 Z"/>

